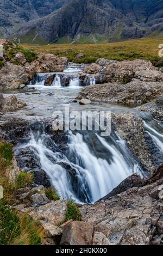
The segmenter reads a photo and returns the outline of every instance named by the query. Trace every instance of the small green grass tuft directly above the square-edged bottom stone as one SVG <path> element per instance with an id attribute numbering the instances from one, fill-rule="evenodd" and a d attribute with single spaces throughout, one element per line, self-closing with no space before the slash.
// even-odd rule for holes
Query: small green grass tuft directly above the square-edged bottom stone
<path id="1" fill-rule="evenodd" d="M 66 210 L 66 221 L 81 221 L 82 215 L 80 214 L 80 209 L 77 204 L 72 200 L 67 202 L 67 210 Z"/>

